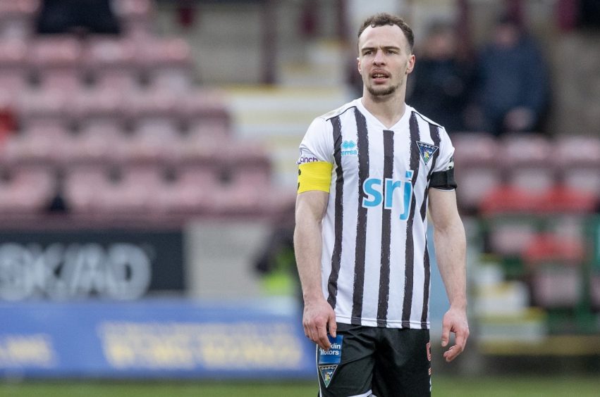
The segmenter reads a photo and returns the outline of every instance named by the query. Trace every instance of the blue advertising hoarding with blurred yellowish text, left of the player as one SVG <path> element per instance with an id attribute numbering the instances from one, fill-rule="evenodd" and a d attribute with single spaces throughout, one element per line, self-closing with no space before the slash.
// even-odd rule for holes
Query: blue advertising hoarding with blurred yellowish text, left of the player
<path id="1" fill-rule="evenodd" d="M 286 306 L 289 307 L 289 306 Z M 314 344 L 270 301 L 1 303 L 3 377 L 306 379 Z"/>

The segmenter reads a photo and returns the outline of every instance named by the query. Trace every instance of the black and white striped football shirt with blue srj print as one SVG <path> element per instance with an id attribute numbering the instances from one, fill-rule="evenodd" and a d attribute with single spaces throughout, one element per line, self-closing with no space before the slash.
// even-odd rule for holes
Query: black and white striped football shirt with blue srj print
<path id="1" fill-rule="evenodd" d="M 453 152 L 446 130 L 410 106 L 391 128 L 360 99 L 312 122 L 300 158 L 333 164 L 322 288 L 338 322 L 429 328 L 427 189 Z"/>

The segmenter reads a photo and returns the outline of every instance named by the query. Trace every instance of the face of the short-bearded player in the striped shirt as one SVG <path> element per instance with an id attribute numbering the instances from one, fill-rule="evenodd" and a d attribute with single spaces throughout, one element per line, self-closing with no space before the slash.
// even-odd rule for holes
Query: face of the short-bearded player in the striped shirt
<path id="1" fill-rule="evenodd" d="M 358 39 L 358 51 L 358 72 L 369 94 L 391 96 L 405 87 L 415 56 L 400 27 L 367 27 Z"/>

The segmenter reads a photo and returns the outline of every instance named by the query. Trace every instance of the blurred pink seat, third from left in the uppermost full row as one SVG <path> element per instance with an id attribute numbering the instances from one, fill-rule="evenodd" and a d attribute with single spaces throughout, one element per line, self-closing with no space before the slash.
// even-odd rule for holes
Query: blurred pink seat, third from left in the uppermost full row
<path id="1" fill-rule="evenodd" d="M 129 39 L 96 37 L 87 44 L 84 65 L 98 89 L 126 93 L 137 89 L 140 80 L 134 53 L 135 43 Z"/>

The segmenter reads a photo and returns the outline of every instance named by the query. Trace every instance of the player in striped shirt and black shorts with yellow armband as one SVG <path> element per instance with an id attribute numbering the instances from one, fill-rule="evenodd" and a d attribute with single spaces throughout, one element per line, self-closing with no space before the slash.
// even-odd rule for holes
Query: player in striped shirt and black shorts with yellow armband
<path id="1" fill-rule="evenodd" d="M 447 361 L 469 335 L 453 146 L 404 102 L 413 44 L 402 19 L 367 19 L 362 98 L 316 118 L 300 145 L 294 243 L 320 396 L 430 396 L 428 201 L 451 303 L 442 346 L 455 334 Z"/>

